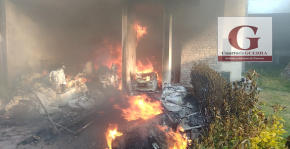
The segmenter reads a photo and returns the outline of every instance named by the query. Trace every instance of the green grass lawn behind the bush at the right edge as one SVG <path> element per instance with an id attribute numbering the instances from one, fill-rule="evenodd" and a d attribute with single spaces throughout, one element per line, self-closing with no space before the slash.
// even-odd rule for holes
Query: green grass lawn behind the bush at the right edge
<path id="1" fill-rule="evenodd" d="M 286 65 L 268 63 L 246 63 L 245 70 L 254 69 L 261 76 L 258 78 L 259 88 L 263 90 L 259 93 L 259 101 L 265 102 L 262 105 L 262 111 L 266 115 L 273 114 L 273 108 L 276 103 L 288 109 L 279 112 L 279 115 L 285 120 L 283 123 L 284 133 L 283 137 L 286 138 L 290 134 L 290 81 L 281 79 L 281 72 Z M 245 73 L 243 76 L 246 76 Z"/>

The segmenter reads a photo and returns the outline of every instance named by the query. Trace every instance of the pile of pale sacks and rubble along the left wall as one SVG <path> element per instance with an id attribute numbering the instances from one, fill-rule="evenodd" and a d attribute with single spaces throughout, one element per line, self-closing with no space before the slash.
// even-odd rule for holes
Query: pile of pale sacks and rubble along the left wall
<path id="1" fill-rule="evenodd" d="M 14 93 L 10 100 L 0 99 L 0 111 L 5 110 L 4 116 L 11 118 L 15 107 L 20 105 L 26 106 L 28 112 L 38 110 L 39 114 L 46 114 L 44 109 L 51 114 L 62 110 L 62 107 L 87 110 L 100 105 L 104 101 L 103 93 L 98 89 L 89 90 L 86 85 L 89 81 L 86 75 L 93 73 L 89 67 L 91 65 L 88 62 L 82 71 L 84 73 L 78 73 L 74 77 L 66 78 L 63 68 L 52 70 L 50 73 L 19 76 L 14 81 Z"/>

